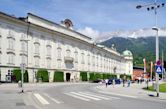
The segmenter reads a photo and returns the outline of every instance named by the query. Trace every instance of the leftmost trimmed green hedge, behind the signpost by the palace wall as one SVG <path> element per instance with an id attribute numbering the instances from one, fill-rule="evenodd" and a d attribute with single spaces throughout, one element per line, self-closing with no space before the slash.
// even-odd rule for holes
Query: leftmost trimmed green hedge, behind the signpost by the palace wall
<path id="1" fill-rule="evenodd" d="M 18 82 L 18 81 L 21 81 L 21 78 L 22 78 L 22 75 L 21 75 L 21 69 L 13 69 L 13 81 L 14 82 Z M 25 70 L 25 73 L 24 73 L 24 82 L 29 82 L 29 77 L 28 77 L 28 71 Z"/>

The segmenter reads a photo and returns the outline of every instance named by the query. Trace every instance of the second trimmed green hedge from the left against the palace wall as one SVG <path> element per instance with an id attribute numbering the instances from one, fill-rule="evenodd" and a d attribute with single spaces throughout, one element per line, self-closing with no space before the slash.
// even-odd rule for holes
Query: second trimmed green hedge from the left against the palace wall
<path id="1" fill-rule="evenodd" d="M 37 71 L 37 82 L 39 82 L 39 78 L 41 78 L 42 82 L 49 82 L 48 71 L 46 69 L 39 69 Z"/>

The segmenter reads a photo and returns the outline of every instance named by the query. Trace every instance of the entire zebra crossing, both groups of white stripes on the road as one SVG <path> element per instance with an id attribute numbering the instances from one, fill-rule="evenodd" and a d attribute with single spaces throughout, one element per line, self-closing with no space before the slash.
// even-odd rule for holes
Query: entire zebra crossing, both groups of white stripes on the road
<path id="1" fill-rule="evenodd" d="M 118 100 L 120 98 L 113 97 L 113 96 L 107 96 L 107 95 L 101 95 L 99 93 L 93 93 L 88 91 L 78 91 L 78 92 L 67 92 L 62 93 L 67 96 L 70 96 L 75 99 L 83 100 L 83 101 L 100 101 L 100 100 Z M 36 101 L 42 105 L 49 105 L 51 103 L 61 104 L 64 103 L 63 101 L 57 100 L 56 98 L 51 97 L 47 93 L 33 93 L 33 96 L 35 97 Z M 69 99 L 70 100 L 70 99 Z"/>

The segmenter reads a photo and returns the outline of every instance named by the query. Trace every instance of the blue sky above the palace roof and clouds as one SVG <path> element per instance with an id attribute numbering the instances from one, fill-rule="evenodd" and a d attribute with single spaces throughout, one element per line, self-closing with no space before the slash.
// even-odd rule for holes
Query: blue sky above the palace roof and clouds
<path id="1" fill-rule="evenodd" d="M 154 0 L 1 0 L 0 11 L 17 17 L 28 12 L 59 23 L 69 18 L 74 29 L 94 32 L 135 30 L 154 26 L 154 12 L 136 9 Z M 166 0 L 158 0 L 159 3 Z M 166 6 L 158 10 L 158 25 L 166 27 Z"/>

